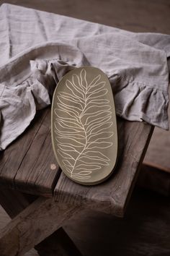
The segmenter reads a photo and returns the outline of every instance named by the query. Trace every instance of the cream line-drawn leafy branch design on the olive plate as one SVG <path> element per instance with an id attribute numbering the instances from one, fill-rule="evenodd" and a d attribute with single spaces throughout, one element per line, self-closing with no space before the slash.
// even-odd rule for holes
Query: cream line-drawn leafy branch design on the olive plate
<path id="1" fill-rule="evenodd" d="M 87 180 L 110 162 L 105 150 L 112 146 L 114 133 L 109 129 L 111 106 L 104 96 L 108 90 L 100 74 L 89 81 L 86 69 L 66 80 L 66 88 L 58 93 L 54 109 L 58 154 L 68 176 Z"/>

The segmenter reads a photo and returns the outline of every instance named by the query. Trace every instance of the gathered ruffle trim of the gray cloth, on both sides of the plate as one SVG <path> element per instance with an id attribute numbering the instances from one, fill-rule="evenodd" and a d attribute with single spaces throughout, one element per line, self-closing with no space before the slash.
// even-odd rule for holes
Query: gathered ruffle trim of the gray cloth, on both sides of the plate
<path id="1" fill-rule="evenodd" d="M 24 132 L 24 129 L 34 119 L 36 109 L 50 105 L 58 81 L 66 72 L 75 68 L 74 64 L 61 61 L 61 59 L 30 61 L 30 66 L 32 71 L 30 77 L 14 87 L 6 86 L 1 95 L 1 123 L 3 122 L 1 127 L 2 129 L 8 127 L 10 135 L 1 137 L 0 150 L 4 150 L 10 142 Z M 146 121 L 156 127 L 169 129 L 167 92 L 135 80 L 126 80 L 119 74 L 108 78 L 112 86 L 118 116 L 129 121 Z M 11 97 L 14 102 L 12 111 L 9 108 Z M 20 120 L 22 127 L 19 127 L 18 121 L 16 122 L 19 119 L 19 113 L 22 118 Z"/>

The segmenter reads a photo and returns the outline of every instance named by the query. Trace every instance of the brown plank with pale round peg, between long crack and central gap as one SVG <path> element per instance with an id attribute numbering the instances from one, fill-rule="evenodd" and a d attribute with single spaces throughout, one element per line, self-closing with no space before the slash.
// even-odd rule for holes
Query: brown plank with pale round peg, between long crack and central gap
<path id="1" fill-rule="evenodd" d="M 59 174 L 59 166 L 51 144 L 49 109 L 27 155 L 19 166 L 14 179 L 15 187 L 30 194 L 49 196 L 53 194 Z"/>

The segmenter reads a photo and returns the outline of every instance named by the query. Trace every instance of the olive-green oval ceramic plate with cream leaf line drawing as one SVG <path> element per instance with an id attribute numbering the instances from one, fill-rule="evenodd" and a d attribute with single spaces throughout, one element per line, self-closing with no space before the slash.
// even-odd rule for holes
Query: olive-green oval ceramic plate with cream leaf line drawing
<path id="1" fill-rule="evenodd" d="M 59 166 L 74 182 L 98 184 L 112 174 L 117 160 L 115 103 L 100 69 L 75 68 L 58 83 L 52 142 Z"/>

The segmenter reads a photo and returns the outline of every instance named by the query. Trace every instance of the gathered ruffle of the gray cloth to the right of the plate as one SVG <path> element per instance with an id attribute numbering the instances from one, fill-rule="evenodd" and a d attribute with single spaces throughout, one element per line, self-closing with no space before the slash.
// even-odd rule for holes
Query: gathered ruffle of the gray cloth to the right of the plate
<path id="1" fill-rule="evenodd" d="M 148 124 L 169 129 L 169 95 L 135 80 L 120 75 L 109 77 L 118 116 L 129 121 L 146 121 Z"/>

